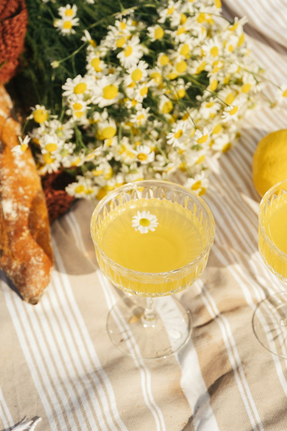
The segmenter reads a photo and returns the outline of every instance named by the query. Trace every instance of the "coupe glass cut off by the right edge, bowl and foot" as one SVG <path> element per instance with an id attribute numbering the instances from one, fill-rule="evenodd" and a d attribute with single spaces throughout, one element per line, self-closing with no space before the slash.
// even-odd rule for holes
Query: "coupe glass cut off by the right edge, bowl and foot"
<path id="1" fill-rule="evenodd" d="M 259 205 L 259 253 L 265 265 L 287 283 L 287 180 L 271 187 Z M 287 359 L 287 292 L 272 294 L 257 306 L 253 330 L 260 343 Z"/>

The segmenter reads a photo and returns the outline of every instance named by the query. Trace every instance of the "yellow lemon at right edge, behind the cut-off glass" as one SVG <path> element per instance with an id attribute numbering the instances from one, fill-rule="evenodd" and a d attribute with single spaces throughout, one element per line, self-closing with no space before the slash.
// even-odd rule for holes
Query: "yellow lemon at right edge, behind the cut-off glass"
<path id="1" fill-rule="evenodd" d="M 287 178 L 287 129 L 269 133 L 253 155 L 253 184 L 260 196 Z"/>

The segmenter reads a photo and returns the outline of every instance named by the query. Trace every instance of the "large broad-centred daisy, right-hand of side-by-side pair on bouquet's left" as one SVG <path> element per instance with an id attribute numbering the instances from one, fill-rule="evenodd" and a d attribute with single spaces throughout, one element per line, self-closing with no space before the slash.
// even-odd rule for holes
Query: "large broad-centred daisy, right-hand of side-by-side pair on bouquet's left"
<path id="1" fill-rule="evenodd" d="M 103 76 L 96 81 L 93 103 L 100 108 L 117 103 L 123 94 L 119 92 L 121 79 L 117 75 Z"/>

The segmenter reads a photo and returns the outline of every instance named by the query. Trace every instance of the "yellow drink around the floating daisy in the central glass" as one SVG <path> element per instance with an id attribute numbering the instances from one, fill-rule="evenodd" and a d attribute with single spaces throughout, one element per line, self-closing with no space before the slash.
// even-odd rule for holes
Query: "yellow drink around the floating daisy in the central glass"
<path id="1" fill-rule="evenodd" d="M 141 233 L 132 227 L 133 216 L 143 210 L 157 217 L 154 231 Z M 96 235 L 99 246 L 111 261 L 96 250 L 102 272 L 121 289 L 141 295 L 159 296 L 192 284 L 207 262 L 202 259 L 191 269 L 173 275 L 152 275 L 180 269 L 200 256 L 207 245 L 199 219 L 179 203 L 156 198 L 126 202 L 110 211 Z M 130 269 L 140 273 L 127 272 Z"/>

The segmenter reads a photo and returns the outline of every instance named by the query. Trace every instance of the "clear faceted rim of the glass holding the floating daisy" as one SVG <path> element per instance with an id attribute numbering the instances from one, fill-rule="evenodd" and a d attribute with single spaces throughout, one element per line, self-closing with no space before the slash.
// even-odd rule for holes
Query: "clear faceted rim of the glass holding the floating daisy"
<path id="1" fill-rule="evenodd" d="M 141 271 L 135 271 L 133 269 L 130 268 L 126 268 L 122 265 L 119 265 L 117 262 L 114 262 L 114 260 L 110 259 L 103 251 L 102 249 L 99 247 L 99 244 L 97 243 L 97 240 L 93 234 L 93 222 L 94 220 L 96 220 L 97 215 L 99 214 L 99 212 L 102 210 L 102 208 L 114 197 L 116 197 L 118 194 L 123 193 L 125 191 L 130 191 L 133 190 L 135 188 L 138 187 L 146 187 L 146 186 L 157 186 L 157 187 L 170 187 L 170 189 L 174 190 L 174 189 L 178 189 L 179 191 L 184 192 L 187 196 L 191 197 L 192 199 L 194 199 L 195 203 L 196 201 L 198 201 L 199 203 L 201 203 L 201 205 L 204 207 L 205 210 L 205 214 L 207 215 L 207 219 L 210 222 L 210 238 L 208 240 L 208 244 L 205 247 L 205 249 L 201 252 L 201 254 L 194 259 L 192 262 L 189 262 L 187 265 L 182 266 L 180 268 L 177 269 L 173 269 L 172 271 L 166 271 L 166 272 L 141 272 Z M 107 260 L 109 263 L 111 263 L 113 266 L 117 267 L 120 270 L 124 270 L 124 271 L 128 271 L 131 272 L 133 274 L 138 274 L 138 275 L 144 275 L 144 276 L 164 276 L 164 275 L 172 275 L 172 274 L 176 274 L 179 272 L 185 272 L 186 269 L 191 268 L 192 266 L 194 266 L 196 263 L 200 262 L 204 256 L 209 252 L 210 247 L 213 244 L 213 240 L 214 240 L 214 236 L 215 236 L 215 221 L 214 221 L 214 217 L 212 212 L 210 211 L 209 206 L 207 205 L 207 203 L 200 197 L 198 196 L 198 194 L 189 191 L 186 187 L 182 186 L 181 184 L 177 184 L 177 183 L 173 183 L 171 181 L 161 181 L 161 180 L 142 180 L 142 181 L 133 181 L 127 184 L 124 184 L 120 187 L 115 188 L 114 190 L 110 191 L 108 194 L 105 195 L 105 197 L 103 197 L 99 203 L 96 205 L 92 217 L 91 217 L 91 223 L 90 223 L 90 231 L 91 231 L 91 236 L 92 236 L 92 240 L 94 245 L 96 246 L 97 250 L 99 251 L 99 253 L 101 254 L 101 256 Z"/>

